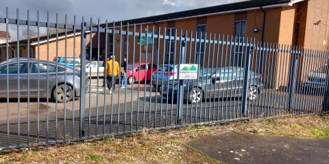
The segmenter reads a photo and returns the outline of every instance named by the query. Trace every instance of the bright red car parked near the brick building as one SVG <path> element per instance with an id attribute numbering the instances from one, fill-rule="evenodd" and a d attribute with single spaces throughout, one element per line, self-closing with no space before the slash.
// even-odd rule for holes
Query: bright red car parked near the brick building
<path id="1" fill-rule="evenodd" d="M 133 67 L 134 66 L 134 67 Z M 127 66 L 127 83 L 132 84 L 136 81 L 151 81 L 152 73 L 158 67 L 152 63 L 135 63 Z"/>

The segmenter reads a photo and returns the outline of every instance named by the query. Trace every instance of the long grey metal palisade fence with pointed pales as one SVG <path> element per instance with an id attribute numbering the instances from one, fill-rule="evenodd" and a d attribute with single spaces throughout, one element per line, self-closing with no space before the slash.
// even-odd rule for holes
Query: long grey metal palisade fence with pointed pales
<path id="1" fill-rule="evenodd" d="M 2 149 L 326 112 L 327 51 L 153 24 L 6 13 Z M 193 79 L 181 79 L 195 70 L 186 76 Z"/>

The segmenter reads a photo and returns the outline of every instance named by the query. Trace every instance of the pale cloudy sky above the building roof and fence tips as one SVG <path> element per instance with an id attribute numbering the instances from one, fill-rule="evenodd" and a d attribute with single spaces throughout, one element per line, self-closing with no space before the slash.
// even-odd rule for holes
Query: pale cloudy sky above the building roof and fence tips
<path id="1" fill-rule="evenodd" d="M 16 18 L 18 8 L 20 19 L 27 19 L 29 10 L 30 20 L 36 20 L 36 12 L 39 11 L 42 22 L 47 21 L 48 12 L 49 22 L 53 23 L 56 13 L 59 14 L 60 22 L 64 22 L 67 14 L 69 22 L 73 22 L 75 15 L 77 21 L 84 16 L 85 20 L 90 21 L 92 17 L 97 22 L 99 18 L 101 23 L 105 23 L 106 19 L 109 22 L 127 20 L 237 1 L 243 0 L 0 0 L 0 17 L 5 18 L 5 7 L 8 7 L 10 18 Z M 0 30 L 5 30 L 5 25 L 0 24 Z M 10 27 L 10 35 L 16 37 L 16 27 Z"/>

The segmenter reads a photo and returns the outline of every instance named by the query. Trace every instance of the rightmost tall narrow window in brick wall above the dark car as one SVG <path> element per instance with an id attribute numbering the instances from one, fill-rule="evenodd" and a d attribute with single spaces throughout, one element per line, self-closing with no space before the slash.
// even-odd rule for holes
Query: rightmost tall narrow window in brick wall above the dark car
<path id="1" fill-rule="evenodd" d="M 234 39 L 236 44 L 243 43 L 245 39 L 245 33 L 247 30 L 247 21 L 246 20 L 241 20 L 241 21 L 236 21 L 234 23 Z M 241 66 L 243 63 L 243 46 L 235 46 L 234 49 L 234 54 L 233 56 L 233 64 L 234 66 Z"/>

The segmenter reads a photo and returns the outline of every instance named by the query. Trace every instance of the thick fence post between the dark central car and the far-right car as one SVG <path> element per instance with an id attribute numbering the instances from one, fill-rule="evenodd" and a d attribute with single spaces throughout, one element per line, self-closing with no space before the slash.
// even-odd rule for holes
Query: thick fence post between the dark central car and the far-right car
<path id="1" fill-rule="evenodd" d="M 289 98 L 288 98 L 288 109 L 289 111 L 293 107 L 293 95 L 295 94 L 295 81 L 296 81 L 296 72 L 297 72 L 297 65 L 298 65 L 298 59 L 297 59 L 297 49 L 293 49 L 292 52 L 292 66 L 291 66 L 291 74 L 289 78 Z"/>

